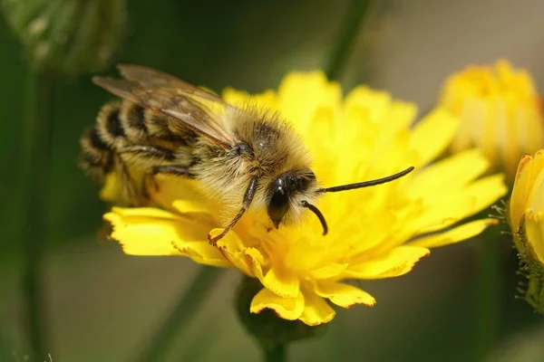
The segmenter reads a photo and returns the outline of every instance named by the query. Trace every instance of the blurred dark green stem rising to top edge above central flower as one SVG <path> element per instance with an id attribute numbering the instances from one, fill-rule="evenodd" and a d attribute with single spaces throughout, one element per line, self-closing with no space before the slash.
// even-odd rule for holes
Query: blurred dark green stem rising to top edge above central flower
<path id="1" fill-rule="evenodd" d="M 330 81 L 338 80 L 345 62 L 353 48 L 355 37 L 359 32 L 364 15 L 370 9 L 371 0 L 352 0 L 345 13 L 345 20 L 340 35 L 337 38 L 331 57 L 325 68 L 326 76 Z"/>

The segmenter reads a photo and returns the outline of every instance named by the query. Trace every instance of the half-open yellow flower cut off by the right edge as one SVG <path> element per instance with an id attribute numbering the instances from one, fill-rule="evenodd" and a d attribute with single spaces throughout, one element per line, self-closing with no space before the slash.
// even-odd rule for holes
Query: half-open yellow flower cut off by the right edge
<path id="1" fill-rule="evenodd" d="M 520 160 L 508 222 L 528 277 L 525 298 L 544 313 L 544 149 Z"/>

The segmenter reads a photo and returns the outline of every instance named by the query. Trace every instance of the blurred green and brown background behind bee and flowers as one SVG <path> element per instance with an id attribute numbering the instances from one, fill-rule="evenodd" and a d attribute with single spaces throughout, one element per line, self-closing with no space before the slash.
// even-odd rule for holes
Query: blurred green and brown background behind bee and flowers
<path id="1" fill-rule="evenodd" d="M 131 0 L 129 28 L 115 62 L 167 71 L 213 90 L 259 91 L 291 70 L 325 67 L 351 1 Z M 442 81 L 470 63 L 509 59 L 544 87 L 544 2 L 525 0 L 376 2 L 355 39 L 341 81 L 365 82 L 432 107 Z M 0 361 L 24 360 L 23 222 L 20 158 L 24 53 L 0 18 Z M 112 72 L 112 67 L 109 69 Z M 106 210 L 98 187 L 75 166 L 78 138 L 109 95 L 89 74 L 65 78 L 54 102 L 43 281 L 53 361 L 137 357 L 189 285 L 199 265 L 175 257 L 130 257 L 98 242 Z M 42 175 L 34 175 L 42 177 Z M 485 237 L 486 235 L 484 235 Z M 544 361 L 544 319 L 515 300 L 520 277 L 508 238 L 497 237 L 498 289 L 482 325 L 481 240 L 432 252 L 406 276 L 364 281 L 372 309 L 338 310 L 321 337 L 297 343 L 292 360 Z M 172 361 L 258 360 L 233 309 L 240 275 L 225 271 Z M 483 310 L 482 310 L 483 308 Z M 190 311 L 188 311 L 190 312 Z"/>

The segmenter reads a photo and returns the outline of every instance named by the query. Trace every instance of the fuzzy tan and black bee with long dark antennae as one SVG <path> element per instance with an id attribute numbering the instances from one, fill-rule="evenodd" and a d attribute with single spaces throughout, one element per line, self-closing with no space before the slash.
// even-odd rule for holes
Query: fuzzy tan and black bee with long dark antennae
<path id="1" fill-rule="evenodd" d="M 82 138 L 83 159 L 99 181 L 112 170 L 121 174 L 133 204 L 145 187 L 131 180 L 129 167 L 151 176 L 170 174 L 195 179 L 228 215 L 216 243 L 251 210 L 266 210 L 271 224 L 300 222 L 305 210 L 316 214 L 321 195 L 391 182 L 413 167 L 383 178 L 322 187 L 309 152 L 287 120 L 269 110 L 236 107 L 207 90 L 149 68 L 119 65 L 122 79 L 92 81 L 121 98 L 106 104 Z M 140 189 L 140 190 L 139 190 Z"/>

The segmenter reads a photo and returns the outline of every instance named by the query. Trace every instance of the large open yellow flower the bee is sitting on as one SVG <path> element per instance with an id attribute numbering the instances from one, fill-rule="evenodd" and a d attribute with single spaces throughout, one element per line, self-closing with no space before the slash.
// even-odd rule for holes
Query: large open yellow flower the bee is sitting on
<path id="1" fill-rule="evenodd" d="M 228 89 L 223 97 L 239 104 L 249 95 Z M 319 208 L 329 224 L 326 236 L 312 214 L 299 225 L 270 230 L 267 216 L 256 212 L 244 215 L 219 241 L 219 249 L 207 239 L 219 227 L 218 205 L 201 195 L 193 181 L 161 177 L 153 197 L 162 210 L 113 208 L 105 215 L 124 252 L 185 255 L 236 267 L 262 283 L 252 312 L 272 309 L 283 319 L 317 325 L 335 317 L 329 302 L 344 308 L 374 305 L 369 293 L 345 280 L 403 275 L 430 248 L 460 242 L 494 224 L 491 219 L 457 224 L 506 191 L 500 175 L 476 180 L 488 167 L 478 150 L 427 166 L 457 129 L 457 119 L 446 110 L 433 110 L 411 128 L 413 104 L 366 87 L 343 100 L 338 84 L 321 72 L 291 73 L 279 90 L 250 101 L 292 121 L 324 186 L 387 176 L 410 166 L 416 171 L 382 186 L 323 196 Z"/>

